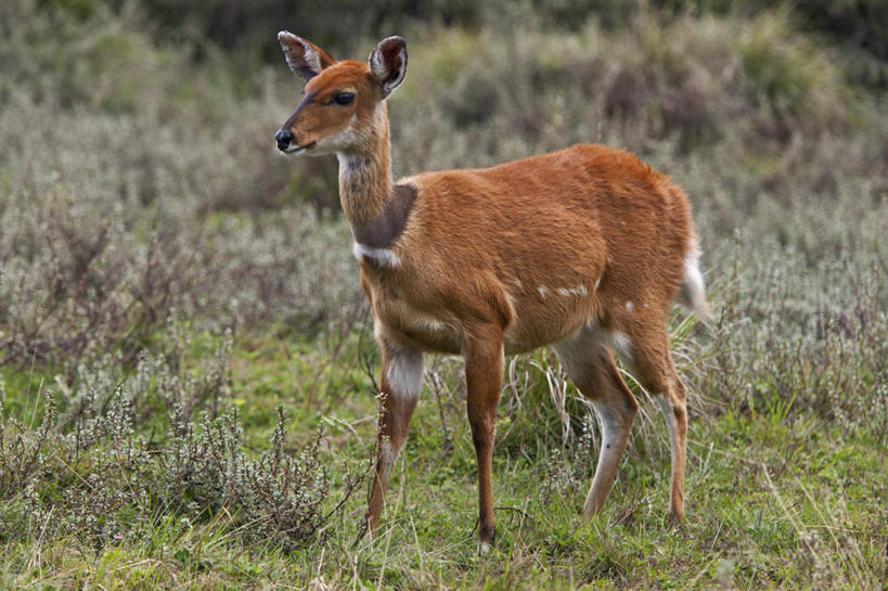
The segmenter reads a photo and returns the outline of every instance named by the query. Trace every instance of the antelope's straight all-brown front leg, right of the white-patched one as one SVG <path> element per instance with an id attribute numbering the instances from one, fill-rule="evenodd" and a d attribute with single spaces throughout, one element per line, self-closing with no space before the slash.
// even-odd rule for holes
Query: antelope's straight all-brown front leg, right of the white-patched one
<path id="1" fill-rule="evenodd" d="M 468 344 L 465 350 L 465 378 L 468 423 L 478 464 L 478 541 L 484 554 L 490 550 L 497 536 L 491 471 L 497 404 L 503 380 L 502 331 L 491 329 L 482 338 Z"/>

